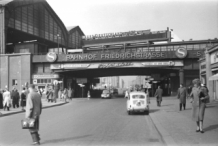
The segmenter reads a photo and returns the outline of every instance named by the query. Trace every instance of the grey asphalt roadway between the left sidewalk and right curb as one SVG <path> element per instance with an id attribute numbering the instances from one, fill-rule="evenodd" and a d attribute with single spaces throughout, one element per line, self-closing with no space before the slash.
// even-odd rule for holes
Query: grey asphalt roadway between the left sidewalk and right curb
<path id="1" fill-rule="evenodd" d="M 0 146 L 31 145 L 22 118 L 24 113 L 0 118 Z M 150 116 L 127 114 L 124 98 L 74 99 L 43 109 L 39 133 L 45 146 L 165 145 Z"/>

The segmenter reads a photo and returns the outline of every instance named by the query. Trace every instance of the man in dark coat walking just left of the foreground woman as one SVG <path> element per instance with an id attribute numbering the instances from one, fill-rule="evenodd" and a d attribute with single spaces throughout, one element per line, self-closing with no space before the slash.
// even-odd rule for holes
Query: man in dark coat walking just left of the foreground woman
<path id="1" fill-rule="evenodd" d="M 188 97 L 188 92 L 187 89 L 185 87 L 183 87 L 183 84 L 180 84 L 180 88 L 178 89 L 178 95 L 177 95 L 180 103 L 179 103 L 179 110 L 182 110 L 182 106 L 183 109 L 185 110 L 186 107 L 186 98 Z"/>

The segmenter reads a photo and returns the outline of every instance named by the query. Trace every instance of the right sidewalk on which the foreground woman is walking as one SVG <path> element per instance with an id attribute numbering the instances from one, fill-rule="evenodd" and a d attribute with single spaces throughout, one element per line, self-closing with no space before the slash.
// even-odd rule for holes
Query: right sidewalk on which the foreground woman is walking
<path id="1" fill-rule="evenodd" d="M 161 107 L 151 98 L 150 117 L 168 146 L 217 146 L 218 145 L 218 102 L 207 105 L 204 117 L 205 133 L 196 133 L 196 122 L 191 119 L 191 103 L 186 110 L 179 111 L 176 97 L 163 97 Z"/>

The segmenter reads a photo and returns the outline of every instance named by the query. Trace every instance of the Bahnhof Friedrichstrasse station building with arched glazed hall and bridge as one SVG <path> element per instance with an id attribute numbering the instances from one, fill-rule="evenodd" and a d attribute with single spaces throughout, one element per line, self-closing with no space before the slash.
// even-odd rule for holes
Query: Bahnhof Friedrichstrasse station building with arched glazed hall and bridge
<path id="1" fill-rule="evenodd" d="M 142 75 L 153 79 L 152 92 L 160 85 L 164 95 L 175 95 L 179 84 L 188 87 L 200 77 L 207 82 L 199 66 L 208 62 L 199 59 L 218 40 L 171 39 L 169 28 L 85 36 L 79 26 L 66 27 L 45 0 L 0 1 L 0 88 L 59 81 L 59 88 L 80 96 L 78 84 L 88 90 L 95 78 Z M 69 53 L 76 49 L 82 52 Z"/>

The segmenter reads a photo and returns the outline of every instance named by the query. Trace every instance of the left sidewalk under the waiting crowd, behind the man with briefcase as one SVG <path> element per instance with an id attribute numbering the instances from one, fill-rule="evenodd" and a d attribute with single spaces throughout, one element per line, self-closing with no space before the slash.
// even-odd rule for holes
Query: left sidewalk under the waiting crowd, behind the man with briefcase
<path id="1" fill-rule="evenodd" d="M 54 103 L 54 102 L 48 103 L 48 101 L 45 98 L 42 98 L 42 108 L 43 109 L 54 107 L 54 106 L 60 106 L 63 104 L 66 104 L 66 103 L 62 100 L 59 100 L 59 99 L 57 99 L 56 103 Z M 4 109 L 0 109 L 0 117 L 9 116 L 9 115 L 17 114 L 17 113 L 22 113 L 22 112 L 25 112 L 25 111 L 22 111 L 21 107 L 19 107 L 19 108 L 11 107 L 10 111 L 7 111 L 7 109 L 5 109 L 5 111 L 4 111 Z"/>

